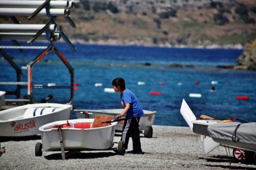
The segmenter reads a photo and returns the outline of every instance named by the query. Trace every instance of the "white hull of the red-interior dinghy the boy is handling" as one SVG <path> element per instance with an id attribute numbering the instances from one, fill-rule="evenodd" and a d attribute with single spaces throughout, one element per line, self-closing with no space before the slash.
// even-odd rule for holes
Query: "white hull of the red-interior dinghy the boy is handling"
<path id="1" fill-rule="evenodd" d="M 94 119 L 73 119 L 75 122 L 93 122 Z M 63 125 L 66 121 L 56 121 L 48 123 L 39 128 L 42 137 L 44 151 L 60 151 L 60 138 L 58 125 Z M 54 128 L 51 128 L 54 127 Z M 114 140 L 116 122 L 106 127 L 89 129 L 62 128 L 64 150 L 105 150 L 112 147 Z"/>

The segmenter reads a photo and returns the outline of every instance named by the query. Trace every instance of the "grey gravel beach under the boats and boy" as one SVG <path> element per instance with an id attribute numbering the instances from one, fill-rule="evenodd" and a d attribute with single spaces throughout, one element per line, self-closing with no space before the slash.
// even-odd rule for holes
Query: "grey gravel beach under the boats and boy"
<path id="1" fill-rule="evenodd" d="M 153 129 L 151 139 L 140 135 L 143 155 L 126 153 L 122 156 L 112 150 L 82 151 L 61 160 L 61 152 L 43 152 L 42 156 L 35 156 L 34 148 L 41 142 L 40 136 L 1 139 L 6 153 L 0 158 L 0 169 L 256 169 L 252 162 L 240 163 L 233 158 L 230 167 L 224 147 L 204 154 L 200 136 L 188 127 L 154 125 Z M 119 141 L 120 135 L 116 133 L 114 141 Z M 132 150 L 131 138 L 126 151 L 129 150 Z"/>

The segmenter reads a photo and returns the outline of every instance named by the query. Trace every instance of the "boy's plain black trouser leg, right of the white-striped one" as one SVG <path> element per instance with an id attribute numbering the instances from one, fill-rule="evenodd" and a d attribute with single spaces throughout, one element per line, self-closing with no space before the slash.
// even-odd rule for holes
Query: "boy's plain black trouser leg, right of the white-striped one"
<path id="1" fill-rule="evenodd" d="M 137 120 L 138 120 L 138 122 L 137 122 Z M 134 118 L 133 122 L 132 122 L 132 124 L 133 124 L 132 132 L 131 132 L 132 147 L 133 147 L 134 152 L 142 152 L 141 144 L 140 144 L 140 130 L 139 130 L 140 117 L 137 117 L 137 120 L 136 120 L 136 118 Z"/>

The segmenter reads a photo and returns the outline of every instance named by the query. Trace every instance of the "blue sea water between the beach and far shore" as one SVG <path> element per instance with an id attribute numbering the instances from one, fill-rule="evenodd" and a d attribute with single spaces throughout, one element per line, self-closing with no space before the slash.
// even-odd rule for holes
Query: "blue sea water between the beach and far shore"
<path id="1" fill-rule="evenodd" d="M 0 44 L 10 43 L 4 41 Z M 256 72 L 216 68 L 217 65 L 236 64 L 242 50 L 76 44 L 77 52 L 73 53 L 66 44 L 56 46 L 74 68 L 75 82 L 81 84 L 74 97 L 77 109 L 122 108 L 119 94 L 104 92 L 104 88 L 112 88 L 114 78 L 122 77 L 126 80 L 126 88 L 136 94 L 143 109 L 157 111 L 154 125 L 187 126 L 180 114 L 183 98 L 198 116 L 205 114 L 220 119 L 234 116 L 245 121 L 256 121 Z M 5 51 L 21 67 L 26 66 L 42 49 L 24 50 L 23 53 L 17 49 Z M 144 63 L 151 63 L 151 66 Z M 195 67 L 171 68 L 169 65 L 172 63 L 192 64 Z M 0 60 L 0 69 L 0 81 L 16 81 L 14 69 L 3 59 Z M 22 81 L 27 81 L 27 70 L 22 71 L 25 74 Z M 138 81 L 146 84 L 138 86 Z M 194 81 L 200 84 L 194 85 Z M 218 81 L 214 84 L 214 93 L 209 92 L 212 81 Z M 58 57 L 49 53 L 33 67 L 32 82 L 69 85 L 70 76 Z M 160 86 L 159 82 L 166 82 L 166 85 Z M 178 86 L 178 82 L 183 84 Z M 95 87 L 95 83 L 102 83 L 103 86 Z M 0 90 L 13 89 L 15 86 L 0 85 Z M 159 91 L 162 95 L 151 96 L 150 91 Z M 32 92 L 36 100 L 52 94 L 52 101 L 56 102 L 68 102 L 70 95 L 68 89 L 33 89 Z M 200 93 L 202 98 L 190 98 L 190 93 Z M 24 95 L 26 89 L 22 89 Z M 249 96 L 250 99 L 236 100 L 236 96 Z"/>

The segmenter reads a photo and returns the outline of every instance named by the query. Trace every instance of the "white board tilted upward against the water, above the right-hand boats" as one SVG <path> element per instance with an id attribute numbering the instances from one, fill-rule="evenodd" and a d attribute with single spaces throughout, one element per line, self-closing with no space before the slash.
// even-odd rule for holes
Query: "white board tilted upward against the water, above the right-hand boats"
<path id="1" fill-rule="evenodd" d="M 196 120 L 196 116 L 194 115 L 192 110 L 189 108 L 188 104 L 184 99 L 182 100 L 180 113 L 182 114 L 185 121 L 188 123 L 188 126 L 190 127 L 190 129 L 193 131 L 193 123 L 191 123 L 191 121 Z"/>

